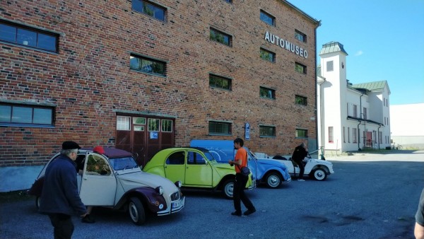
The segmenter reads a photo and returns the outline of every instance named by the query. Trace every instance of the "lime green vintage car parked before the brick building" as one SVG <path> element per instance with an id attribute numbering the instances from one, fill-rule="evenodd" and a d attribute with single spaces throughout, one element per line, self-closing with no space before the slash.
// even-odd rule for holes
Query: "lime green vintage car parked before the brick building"
<path id="1" fill-rule="evenodd" d="M 232 199 L 234 166 L 217 163 L 206 148 L 163 149 L 153 156 L 143 171 L 166 177 L 172 182 L 181 181 L 182 187 L 185 188 L 222 191 L 225 197 Z M 255 187 L 252 173 L 249 175 L 246 187 L 247 189 Z"/>

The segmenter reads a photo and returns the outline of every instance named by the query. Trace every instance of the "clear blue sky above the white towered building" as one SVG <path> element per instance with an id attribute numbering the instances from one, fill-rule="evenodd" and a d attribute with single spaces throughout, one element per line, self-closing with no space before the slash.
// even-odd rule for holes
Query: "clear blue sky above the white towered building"
<path id="1" fill-rule="evenodd" d="M 317 52 L 343 44 L 351 83 L 385 80 L 391 105 L 424 103 L 424 0 L 288 1 L 321 21 Z"/>

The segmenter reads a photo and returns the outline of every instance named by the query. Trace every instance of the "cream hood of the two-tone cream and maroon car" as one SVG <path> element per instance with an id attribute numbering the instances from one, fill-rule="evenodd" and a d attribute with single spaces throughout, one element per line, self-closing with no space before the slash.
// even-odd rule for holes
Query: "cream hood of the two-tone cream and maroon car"
<path id="1" fill-rule="evenodd" d="M 172 194 L 178 190 L 177 186 L 167 178 L 142 171 L 117 175 L 117 178 L 125 191 L 132 190 L 135 187 L 155 188 L 159 186 L 162 186 L 167 194 Z"/>

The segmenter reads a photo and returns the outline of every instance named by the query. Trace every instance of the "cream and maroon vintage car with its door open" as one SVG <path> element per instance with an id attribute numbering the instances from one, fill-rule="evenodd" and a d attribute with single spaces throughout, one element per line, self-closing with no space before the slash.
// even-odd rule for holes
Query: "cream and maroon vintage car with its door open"
<path id="1" fill-rule="evenodd" d="M 49 163 L 59 155 L 53 156 Z M 81 175 L 77 171 L 75 173 L 85 205 L 124 209 L 136 225 L 146 221 L 148 211 L 163 216 L 184 208 L 181 182 L 173 183 L 165 177 L 143 172 L 127 151 L 105 148 L 105 152 L 100 154 L 93 152 L 92 148 L 81 148 L 76 161 L 82 162 Z M 40 196 L 47 165 L 28 190 L 28 194 L 36 196 L 37 208 L 42 200 Z"/>

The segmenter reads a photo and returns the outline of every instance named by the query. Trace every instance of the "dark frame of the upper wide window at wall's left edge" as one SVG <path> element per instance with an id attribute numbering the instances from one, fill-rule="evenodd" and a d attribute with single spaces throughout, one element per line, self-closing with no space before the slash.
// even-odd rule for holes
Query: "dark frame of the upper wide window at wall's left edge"
<path id="1" fill-rule="evenodd" d="M 42 52 L 59 53 L 59 34 L 58 33 L 52 33 L 52 32 L 49 32 L 47 30 L 41 30 L 41 29 L 38 29 L 38 28 L 33 28 L 33 27 L 28 26 L 28 25 L 22 25 L 22 24 L 19 24 L 19 23 L 5 21 L 3 19 L 0 19 L 0 25 L 6 25 L 10 28 L 15 28 L 14 41 L 0 38 L 0 42 L 4 42 L 6 44 L 11 44 L 11 45 L 16 45 L 16 46 L 19 46 L 19 47 L 36 49 L 36 50 L 39 50 L 39 51 L 42 51 Z M 34 37 L 34 36 L 30 36 L 30 35 L 27 36 L 27 37 L 29 37 L 28 40 L 23 40 L 22 43 L 20 43 L 18 41 L 18 37 L 20 37 L 20 35 L 22 35 L 22 33 L 20 34 L 19 30 L 35 33 L 35 45 L 30 45 L 30 42 L 28 42 L 29 38 L 32 39 Z M 6 33 L 7 33 L 7 31 L 6 31 Z M 44 35 L 44 36 L 47 36 L 47 37 L 53 37 L 54 38 L 54 46 L 52 46 L 52 47 L 54 49 L 49 49 L 49 48 L 46 48 L 46 47 L 40 47 L 40 45 L 39 45 L 40 44 L 40 41 L 39 41 L 40 35 Z M 25 41 L 27 42 L 26 45 L 24 44 Z"/>

